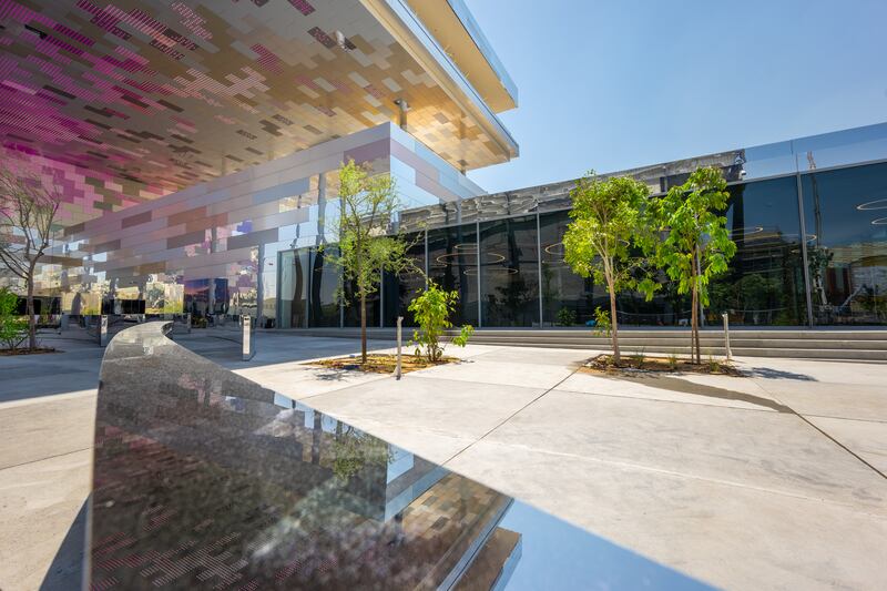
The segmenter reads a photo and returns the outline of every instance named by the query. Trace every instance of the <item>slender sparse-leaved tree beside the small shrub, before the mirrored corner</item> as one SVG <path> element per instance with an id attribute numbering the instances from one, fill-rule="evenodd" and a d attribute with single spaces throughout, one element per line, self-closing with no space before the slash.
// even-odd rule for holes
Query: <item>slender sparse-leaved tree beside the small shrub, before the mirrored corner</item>
<path id="1" fill-rule="evenodd" d="M 360 361 L 367 361 L 367 296 L 379 289 L 383 271 L 400 273 L 410 265 L 407 244 L 399 231 L 391 231 L 391 218 L 399 207 L 394 179 L 370 174 L 366 165 L 349 160 L 339 171 L 341 207 L 338 248 L 333 262 L 341 268 L 344 282 L 354 284 L 360 302 Z"/>

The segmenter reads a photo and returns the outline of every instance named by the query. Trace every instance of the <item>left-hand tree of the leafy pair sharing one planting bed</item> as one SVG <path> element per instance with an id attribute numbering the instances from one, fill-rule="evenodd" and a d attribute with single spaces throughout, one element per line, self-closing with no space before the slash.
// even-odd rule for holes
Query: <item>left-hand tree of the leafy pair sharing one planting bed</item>
<path id="1" fill-rule="evenodd" d="M 593 171 L 570 192 L 572 222 L 563 235 L 563 259 L 582 277 L 606 285 L 615 363 L 620 361 L 616 293 L 639 286 L 632 272 L 641 261 L 632 255 L 632 245 L 644 230 L 641 218 L 649 195 L 640 181 L 628 176 L 602 181 Z"/>

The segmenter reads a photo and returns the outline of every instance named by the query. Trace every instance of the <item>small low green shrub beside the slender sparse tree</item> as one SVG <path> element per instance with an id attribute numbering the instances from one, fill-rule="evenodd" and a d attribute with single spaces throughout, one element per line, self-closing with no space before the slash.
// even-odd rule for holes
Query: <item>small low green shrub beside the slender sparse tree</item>
<path id="1" fill-rule="evenodd" d="M 409 303 L 409 312 L 419 325 L 418 330 L 412 332 L 410 346 L 416 347 L 416 356 L 425 356 L 429 361 L 438 361 L 443 356 L 441 337 L 447 328 L 452 326 L 450 314 L 456 309 L 459 300 L 459 293 L 456 291 L 447 292 L 438 287 L 434 282 L 428 282 L 428 287 L 420 291 Z M 473 334 L 471 325 L 462 326 L 459 336 L 452 338 L 452 344 L 457 347 L 465 347 L 468 339 Z"/>

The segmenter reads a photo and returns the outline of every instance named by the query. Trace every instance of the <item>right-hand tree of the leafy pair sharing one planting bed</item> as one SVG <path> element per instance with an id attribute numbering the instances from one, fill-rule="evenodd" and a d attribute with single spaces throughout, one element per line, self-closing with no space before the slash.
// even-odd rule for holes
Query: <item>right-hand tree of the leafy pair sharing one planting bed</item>
<path id="1" fill-rule="evenodd" d="M 730 193 L 720 169 L 697 169 L 680 186 L 672 187 L 651 208 L 652 221 L 664 237 L 655 243 L 654 261 L 677 283 L 677 293 L 692 294 L 691 356 L 702 363 L 700 353 L 700 304 L 708 305 L 708 282 L 727 271 L 736 254 L 730 238 L 727 208 Z"/>

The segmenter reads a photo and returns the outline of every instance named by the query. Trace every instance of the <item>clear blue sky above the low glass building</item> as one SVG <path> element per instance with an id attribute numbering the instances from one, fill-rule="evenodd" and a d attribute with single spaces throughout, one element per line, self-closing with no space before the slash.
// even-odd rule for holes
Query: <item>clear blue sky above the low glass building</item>
<path id="1" fill-rule="evenodd" d="M 887 121 L 887 0 L 465 0 L 518 85 L 496 192 Z"/>

